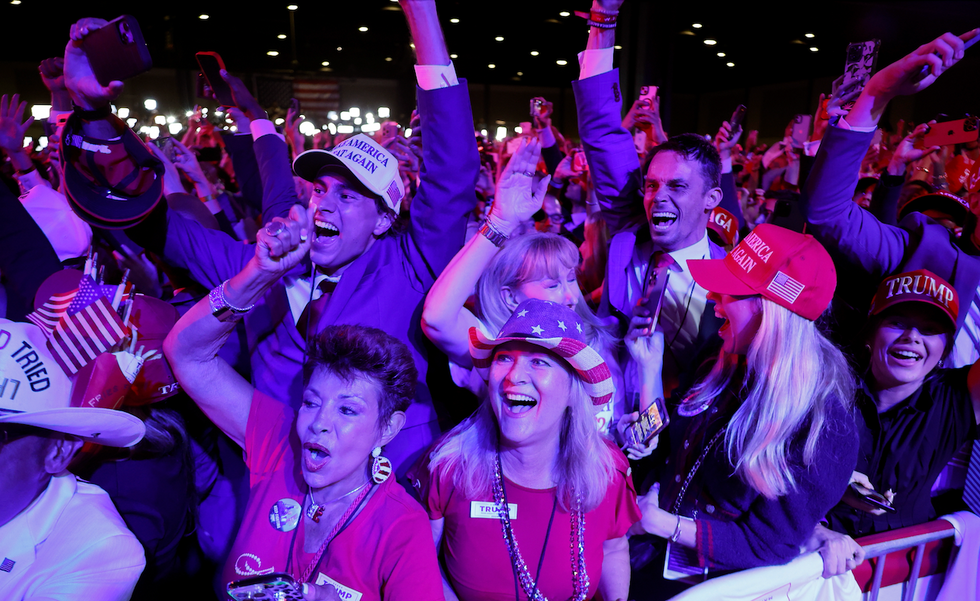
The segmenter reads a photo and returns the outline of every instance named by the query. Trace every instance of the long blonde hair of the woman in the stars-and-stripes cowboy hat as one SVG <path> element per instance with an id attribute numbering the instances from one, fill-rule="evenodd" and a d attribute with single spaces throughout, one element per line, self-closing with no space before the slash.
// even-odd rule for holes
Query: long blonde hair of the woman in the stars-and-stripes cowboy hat
<path id="1" fill-rule="evenodd" d="M 561 421 L 558 458 L 553 474 L 558 503 L 574 507 L 576 495 L 586 512 L 599 506 L 612 482 L 615 463 L 592 416 L 592 399 L 582 380 L 571 376 L 568 407 Z M 450 430 L 429 456 L 429 472 L 445 471 L 470 500 L 492 499 L 493 473 L 500 428 L 489 395 L 480 407 Z"/>

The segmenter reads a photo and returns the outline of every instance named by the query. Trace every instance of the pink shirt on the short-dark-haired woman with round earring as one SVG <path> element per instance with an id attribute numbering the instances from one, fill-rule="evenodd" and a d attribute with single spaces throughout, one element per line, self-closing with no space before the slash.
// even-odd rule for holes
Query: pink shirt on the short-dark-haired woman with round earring
<path id="1" fill-rule="evenodd" d="M 297 580 L 315 554 L 303 552 L 302 520 L 290 532 L 269 519 L 280 499 L 300 505 L 307 486 L 299 468 L 294 412 L 258 391 L 245 433 L 251 493 L 245 517 L 222 574 L 224 582 L 258 574 L 289 572 Z M 442 579 L 425 512 L 389 479 L 364 509 L 333 539 L 310 581 L 334 585 L 349 601 L 442 599 Z"/>

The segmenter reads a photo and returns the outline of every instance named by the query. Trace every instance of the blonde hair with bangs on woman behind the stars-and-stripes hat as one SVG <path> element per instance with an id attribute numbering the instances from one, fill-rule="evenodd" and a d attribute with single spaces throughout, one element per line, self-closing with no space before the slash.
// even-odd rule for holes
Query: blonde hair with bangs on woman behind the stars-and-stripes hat
<path id="1" fill-rule="evenodd" d="M 545 277 L 561 279 L 578 264 L 578 248 L 558 234 L 534 232 L 509 239 L 477 281 L 477 317 L 496 336 L 513 313 L 504 302 L 502 288 L 519 288 Z M 576 303 L 575 313 L 582 318 L 582 333 L 590 346 L 601 349 L 614 345 L 609 327 L 599 321 L 584 299 Z"/>

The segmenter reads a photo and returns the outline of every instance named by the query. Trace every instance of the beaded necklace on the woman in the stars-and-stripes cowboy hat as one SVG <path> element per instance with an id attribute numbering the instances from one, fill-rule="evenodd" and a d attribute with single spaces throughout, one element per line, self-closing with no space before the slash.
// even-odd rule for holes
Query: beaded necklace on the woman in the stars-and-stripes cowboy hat
<path id="1" fill-rule="evenodd" d="M 504 536 L 504 543 L 507 545 L 507 553 L 510 555 L 511 565 L 517 572 L 517 578 L 524 589 L 529 601 L 548 601 L 540 590 L 538 590 L 537 579 L 531 576 L 531 571 L 521 556 L 521 551 L 517 546 L 517 538 L 514 537 L 514 529 L 510 524 L 510 506 L 504 494 L 503 470 L 500 467 L 500 452 L 493 469 L 493 500 L 497 504 L 497 514 L 500 516 L 500 529 Z M 557 494 L 557 492 L 555 493 Z M 584 601 L 589 594 L 589 574 L 585 569 L 585 515 L 582 512 L 582 499 L 576 496 L 575 507 L 571 512 L 571 560 L 572 560 L 572 588 L 574 601 Z M 550 530 L 550 527 L 549 527 Z M 541 553 L 542 561 L 544 552 Z M 540 574 L 541 566 L 538 565 Z"/>

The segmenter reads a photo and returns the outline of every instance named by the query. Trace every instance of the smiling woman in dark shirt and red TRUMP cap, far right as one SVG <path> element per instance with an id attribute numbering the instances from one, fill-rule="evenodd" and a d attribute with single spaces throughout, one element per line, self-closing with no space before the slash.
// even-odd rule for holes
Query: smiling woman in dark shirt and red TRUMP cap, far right
<path id="1" fill-rule="evenodd" d="M 864 331 L 868 368 L 856 395 L 861 452 L 854 484 L 827 516 L 830 529 L 864 536 L 936 518 L 932 486 L 977 437 L 980 422 L 980 363 L 943 369 L 958 312 L 956 290 L 925 269 L 889 276 L 878 287 Z M 823 527 L 817 535 L 842 538 Z M 842 552 L 855 546 L 838 543 Z M 838 571 L 847 559 L 835 555 Z"/>

